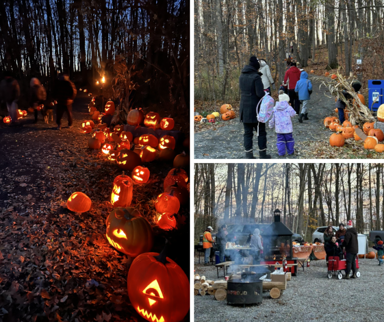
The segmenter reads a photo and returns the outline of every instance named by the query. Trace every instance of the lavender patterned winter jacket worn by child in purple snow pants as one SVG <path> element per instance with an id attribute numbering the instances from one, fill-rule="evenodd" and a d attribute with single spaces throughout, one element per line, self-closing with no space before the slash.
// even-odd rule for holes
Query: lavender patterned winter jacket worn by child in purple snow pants
<path id="1" fill-rule="evenodd" d="M 296 112 L 287 101 L 276 102 L 273 108 L 272 118 L 269 120 L 269 128 L 275 128 L 276 133 L 287 134 L 293 132 L 291 117 Z"/>

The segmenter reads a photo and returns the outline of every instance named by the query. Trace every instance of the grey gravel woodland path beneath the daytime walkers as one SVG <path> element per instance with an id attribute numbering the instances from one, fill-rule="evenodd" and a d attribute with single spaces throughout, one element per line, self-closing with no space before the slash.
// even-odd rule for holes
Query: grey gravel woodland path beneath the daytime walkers
<path id="1" fill-rule="evenodd" d="M 310 76 L 310 78 L 312 78 Z M 307 158 L 305 150 L 309 142 L 329 140 L 330 132 L 324 128 L 324 118 L 335 109 L 335 101 L 324 96 L 324 88 L 319 90 L 320 83 L 313 84 L 309 106 L 309 120 L 299 123 L 297 117 L 292 120 L 295 154 L 279 156 L 276 148 L 277 135 L 267 124 L 267 152 L 272 158 Z M 207 125 L 209 126 L 209 125 Z M 239 117 L 231 125 L 217 127 L 215 131 L 206 130 L 195 133 L 195 158 L 198 159 L 241 159 L 244 158 L 243 124 Z M 257 137 L 253 140 L 255 156 L 258 157 Z"/>

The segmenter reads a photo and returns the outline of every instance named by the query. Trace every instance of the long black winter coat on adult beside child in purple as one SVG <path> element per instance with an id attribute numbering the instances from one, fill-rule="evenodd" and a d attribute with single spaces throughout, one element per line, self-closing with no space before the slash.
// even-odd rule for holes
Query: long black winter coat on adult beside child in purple
<path id="1" fill-rule="evenodd" d="M 241 91 L 240 122 L 257 123 L 256 107 L 265 94 L 261 76 L 262 73 L 250 65 L 246 65 L 242 69 L 239 77 L 239 87 Z"/>

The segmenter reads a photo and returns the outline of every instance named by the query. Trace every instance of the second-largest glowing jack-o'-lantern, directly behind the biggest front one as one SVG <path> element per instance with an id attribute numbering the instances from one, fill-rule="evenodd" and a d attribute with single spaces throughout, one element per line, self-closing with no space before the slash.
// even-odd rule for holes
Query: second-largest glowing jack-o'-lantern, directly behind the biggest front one
<path id="1" fill-rule="evenodd" d="M 132 207 L 113 209 L 106 220 L 107 239 L 118 251 L 131 257 L 148 252 L 153 246 L 149 222 Z"/>

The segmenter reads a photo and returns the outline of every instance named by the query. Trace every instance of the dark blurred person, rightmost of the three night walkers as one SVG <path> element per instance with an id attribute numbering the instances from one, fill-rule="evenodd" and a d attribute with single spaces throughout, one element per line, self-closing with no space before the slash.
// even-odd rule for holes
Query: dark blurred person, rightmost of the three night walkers
<path id="1" fill-rule="evenodd" d="M 69 76 L 59 74 L 53 87 L 53 98 L 57 101 L 56 123 L 58 130 L 61 130 L 61 118 L 64 113 L 68 116 L 68 127 L 72 127 L 72 103 L 76 93 L 76 87 L 69 80 Z"/>

